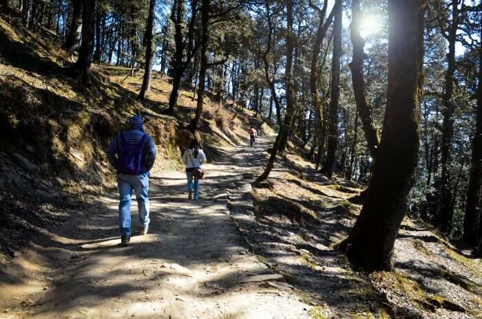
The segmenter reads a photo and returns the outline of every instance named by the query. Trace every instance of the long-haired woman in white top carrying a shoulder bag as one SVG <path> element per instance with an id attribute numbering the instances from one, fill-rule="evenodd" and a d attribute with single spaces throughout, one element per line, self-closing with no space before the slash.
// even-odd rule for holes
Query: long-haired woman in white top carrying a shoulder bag
<path id="1" fill-rule="evenodd" d="M 206 155 L 200 148 L 197 140 L 191 140 L 189 147 L 182 155 L 182 162 L 186 164 L 187 191 L 189 192 L 187 199 L 198 199 L 200 179 L 198 171 L 202 169 L 202 163 L 206 162 Z"/>

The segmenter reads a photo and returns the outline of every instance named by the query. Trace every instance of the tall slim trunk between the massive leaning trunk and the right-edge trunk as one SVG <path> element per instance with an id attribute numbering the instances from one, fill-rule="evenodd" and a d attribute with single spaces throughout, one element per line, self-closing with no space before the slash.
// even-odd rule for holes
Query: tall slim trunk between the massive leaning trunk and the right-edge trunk
<path id="1" fill-rule="evenodd" d="M 442 173 L 440 192 L 440 212 L 437 225 L 442 232 L 450 232 L 452 227 L 452 177 L 450 174 L 450 162 L 452 161 L 452 139 L 454 135 L 454 104 L 452 95 L 454 91 L 455 72 L 455 42 L 459 25 L 459 1 L 452 0 L 452 23 L 448 30 L 448 54 L 445 92 L 443 94 L 443 124 L 442 124 Z"/>

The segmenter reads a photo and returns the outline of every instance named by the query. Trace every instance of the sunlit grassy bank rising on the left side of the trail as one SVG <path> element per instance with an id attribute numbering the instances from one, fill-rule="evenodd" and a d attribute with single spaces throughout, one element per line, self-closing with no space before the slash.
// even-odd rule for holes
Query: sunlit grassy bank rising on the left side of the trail
<path id="1" fill-rule="evenodd" d="M 191 91 L 183 90 L 174 116 L 163 115 L 171 87 L 167 76 L 154 74 L 141 103 L 135 98 L 142 74 L 130 77 L 130 69 L 104 63 L 94 65 L 94 85 L 83 89 L 70 75 L 71 62 L 50 31 L 32 34 L 10 14 L 0 15 L 0 28 L 0 42 L 6 43 L 0 48 L 4 262 L 28 243 L 37 227 L 67 218 L 78 199 L 98 194 L 112 182 L 105 149 L 130 115 L 143 115 L 145 129 L 154 137 L 159 155 L 155 169 L 180 169 L 180 150 L 191 135 L 184 128 L 196 102 Z M 216 148 L 245 140 L 250 124 L 261 133 L 273 133 L 251 111 L 207 101 L 196 134 L 210 159 Z"/>

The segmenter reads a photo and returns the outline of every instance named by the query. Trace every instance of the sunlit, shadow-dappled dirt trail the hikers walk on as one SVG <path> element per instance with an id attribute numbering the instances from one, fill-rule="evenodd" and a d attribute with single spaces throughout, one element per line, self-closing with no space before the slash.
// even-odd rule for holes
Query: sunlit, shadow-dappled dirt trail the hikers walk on
<path id="1" fill-rule="evenodd" d="M 1 274 L 0 318 L 309 318 L 282 279 L 243 283 L 279 276 L 242 245 L 226 207 L 229 190 L 264 161 L 260 142 L 206 165 L 198 202 L 187 201 L 184 174 L 154 173 L 149 234 L 127 248 L 118 245 L 118 195 L 109 190 Z"/>

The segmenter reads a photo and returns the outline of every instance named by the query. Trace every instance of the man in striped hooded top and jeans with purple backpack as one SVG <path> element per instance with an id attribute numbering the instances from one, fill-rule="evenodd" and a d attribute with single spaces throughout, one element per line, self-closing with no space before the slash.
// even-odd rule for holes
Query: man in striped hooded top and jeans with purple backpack
<path id="1" fill-rule="evenodd" d="M 144 133 L 143 118 L 134 115 L 127 124 L 129 129 L 114 137 L 107 149 L 109 163 L 117 170 L 122 245 L 128 245 L 131 238 L 132 190 L 139 210 L 139 233 L 145 235 L 149 230 L 149 170 L 156 160 L 156 145 Z"/>

